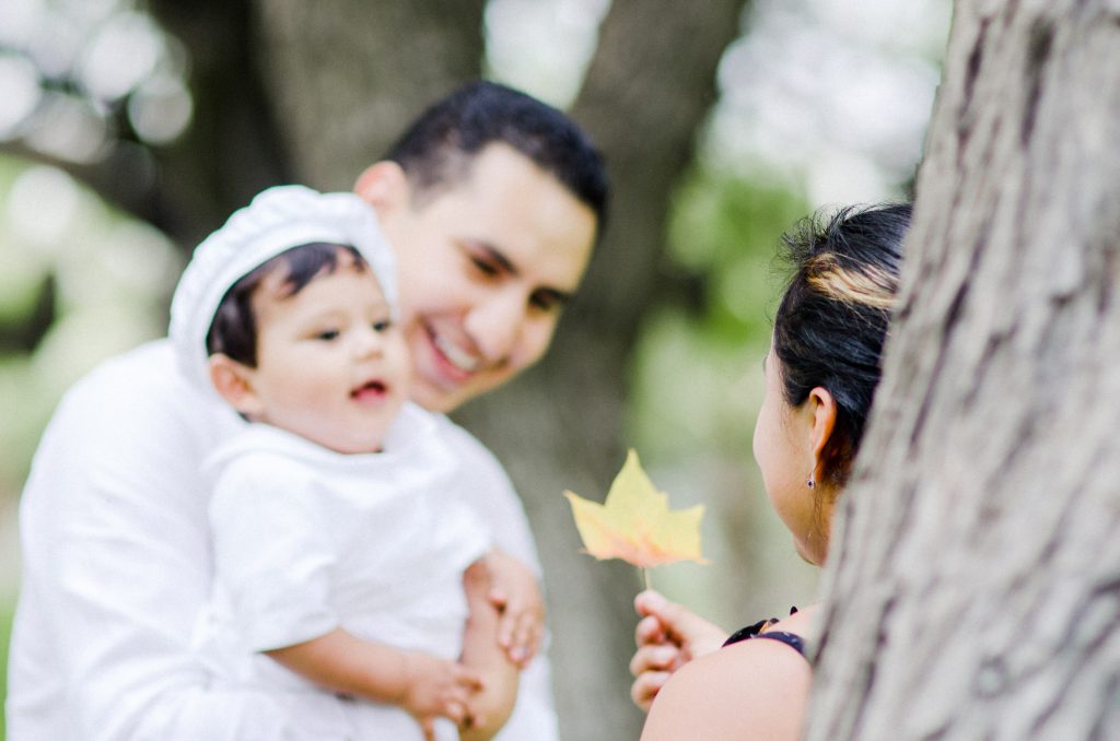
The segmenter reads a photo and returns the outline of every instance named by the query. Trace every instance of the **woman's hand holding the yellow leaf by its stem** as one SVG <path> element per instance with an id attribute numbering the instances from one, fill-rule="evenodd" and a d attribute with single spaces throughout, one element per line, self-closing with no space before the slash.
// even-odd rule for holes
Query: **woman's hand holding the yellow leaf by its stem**
<path id="1" fill-rule="evenodd" d="M 634 675 L 631 700 L 648 712 L 673 672 L 718 649 L 728 634 L 653 590 L 634 598 L 634 609 L 643 617 L 634 630 L 637 650 L 629 664 Z"/>

